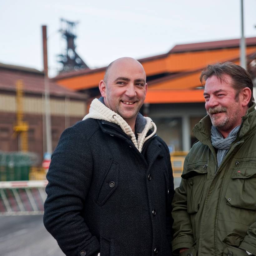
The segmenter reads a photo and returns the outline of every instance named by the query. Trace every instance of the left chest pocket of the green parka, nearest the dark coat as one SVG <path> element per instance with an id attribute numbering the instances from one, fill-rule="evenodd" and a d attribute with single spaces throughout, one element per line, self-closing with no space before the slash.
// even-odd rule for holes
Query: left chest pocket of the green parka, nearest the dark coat
<path id="1" fill-rule="evenodd" d="M 207 178 L 207 164 L 196 165 L 188 168 L 188 172 L 181 177 L 187 180 L 187 212 L 197 213 L 204 193 L 204 182 Z"/>

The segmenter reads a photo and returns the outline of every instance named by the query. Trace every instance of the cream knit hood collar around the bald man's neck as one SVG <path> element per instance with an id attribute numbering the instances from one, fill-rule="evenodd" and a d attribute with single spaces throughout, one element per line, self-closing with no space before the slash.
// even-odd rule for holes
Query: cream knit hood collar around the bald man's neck
<path id="1" fill-rule="evenodd" d="M 120 126 L 123 132 L 131 138 L 133 144 L 140 151 L 140 153 L 142 151 L 142 147 L 145 141 L 151 138 L 156 133 L 155 123 L 149 117 L 143 117 L 140 113 L 138 113 L 135 123 L 138 135 L 138 139 L 136 140 L 135 134 L 133 133 L 131 127 L 120 115 L 105 106 L 102 97 L 100 99 L 94 99 L 91 102 L 89 114 L 87 114 L 83 118 L 83 120 L 86 120 L 88 118 L 104 120 Z M 146 136 L 148 131 L 152 127 L 154 127 L 153 132 L 149 136 Z"/>

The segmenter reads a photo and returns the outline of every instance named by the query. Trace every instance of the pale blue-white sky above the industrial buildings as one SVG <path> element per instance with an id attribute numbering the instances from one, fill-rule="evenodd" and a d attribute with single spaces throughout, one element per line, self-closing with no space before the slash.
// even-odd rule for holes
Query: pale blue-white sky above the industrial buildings
<path id="1" fill-rule="evenodd" d="M 65 51 L 60 18 L 76 25 L 76 52 L 90 68 L 129 56 L 168 52 L 177 44 L 241 36 L 240 0 L 1 1 L 0 62 L 43 70 L 42 25 L 47 25 L 49 76 Z M 244 0 L 244 35 L 256 37 L 256 0 Z"/>

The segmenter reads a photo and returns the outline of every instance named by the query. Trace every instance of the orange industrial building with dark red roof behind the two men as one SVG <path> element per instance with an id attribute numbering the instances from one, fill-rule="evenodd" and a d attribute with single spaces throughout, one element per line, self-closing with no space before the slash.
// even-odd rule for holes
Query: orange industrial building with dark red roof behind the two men
<path id="1" fill-rule="evenodd" d="M 239 64 L 239 39 L 181 44 L 169 52 L 138 60 L 145 68 L 148 92 L 141 112 L 150 116 L 170 151 L 188 151 L 195 138 L 192 128 L 206 115 L 201 71 L 216 62 Z M 256 77 L 256 37 L 246 38 L 247 68 Z M 122 56 L 120 56 L 122 57 Z M 85 93 L 87 105 L 99 97 L 98 83 L 106 67 L 61 73 L 59 85 Z M 87 110 L 88 111 L 88 110 Z"/>

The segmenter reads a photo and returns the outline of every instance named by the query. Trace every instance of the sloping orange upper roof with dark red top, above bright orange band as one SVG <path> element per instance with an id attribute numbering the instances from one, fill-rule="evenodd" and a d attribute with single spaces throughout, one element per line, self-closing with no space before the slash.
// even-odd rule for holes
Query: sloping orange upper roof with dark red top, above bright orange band
<path id="1" fill-rule="evenodd" d="M 246 39 L 246 54 L 256 52 L 256 37 Z M 150 90 L 191 89 L 200 86 L 200 71 L 208 64 L 224 61 L 239 63 L 239 39 L 184 44 L 170 52 L 139 61 L 147 76 L 166 74 L 148 82 Z M 73 90 L 96 88 L 103 79 L 106 67 L 80 70 L 53 78 L 53 81 Z M 169 75 L 168 75 L 169 74 Z"/>

